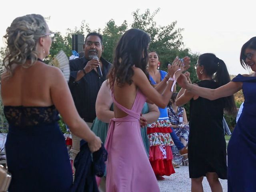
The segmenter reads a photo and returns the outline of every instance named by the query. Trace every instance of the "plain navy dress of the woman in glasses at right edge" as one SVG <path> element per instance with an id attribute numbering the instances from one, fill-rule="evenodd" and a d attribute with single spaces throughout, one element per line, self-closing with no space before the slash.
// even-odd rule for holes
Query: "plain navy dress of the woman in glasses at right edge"
<path id="1" fill-rule="evenodd" d="M 238 75 L 243 82 L 244 108 L 228 142 L 228 192 L 256 191 L 256 77 Z"/>

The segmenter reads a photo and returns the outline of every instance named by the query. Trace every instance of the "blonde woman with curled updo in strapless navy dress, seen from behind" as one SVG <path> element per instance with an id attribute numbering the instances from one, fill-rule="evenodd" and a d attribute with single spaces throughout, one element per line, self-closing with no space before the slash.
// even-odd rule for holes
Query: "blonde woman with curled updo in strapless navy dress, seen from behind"
<path id="1" fill-rule="evenodd" d="M 101 140 L 80 118 L 61 70 L 46 65 L 52 33 L 44 18 L 30 14 L 6 30 L 5 72 L 1 76 L 4 114 L 9 123 L 6 157 L 9 192 L 69 192 L 72 170 L 58 112 L 91 152 Z"/>

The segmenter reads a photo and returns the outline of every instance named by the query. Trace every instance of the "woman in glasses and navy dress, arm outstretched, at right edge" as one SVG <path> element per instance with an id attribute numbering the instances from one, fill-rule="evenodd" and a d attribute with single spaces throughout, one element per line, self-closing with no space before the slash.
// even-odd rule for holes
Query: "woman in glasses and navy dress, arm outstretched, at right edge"
<path id="1" fill-rule="evenodd" d="M 251 68 L 253 73 L 238 74 L 217 89 L 189 84 L 184 75 L 178 79 L 183 88 L 210 100 L 243 90 L 244 109 L 228 143 L 228 192 L 256 190 L 256 37 L 242 46 L 240 62 L 244 68 Z"/>

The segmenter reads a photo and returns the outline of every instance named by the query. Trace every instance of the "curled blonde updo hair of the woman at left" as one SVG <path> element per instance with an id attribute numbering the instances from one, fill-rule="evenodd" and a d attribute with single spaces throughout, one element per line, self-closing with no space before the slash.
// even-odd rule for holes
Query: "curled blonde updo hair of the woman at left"
<path id="1" fill-rule="evenodd" d="M 44 34 L 46 34 L 46 22 L 39 14 L 25 15 L 13 20 L 4 36 L 7 47 L 3 64 L 8 72 L 5 77 L 12 76 L 17 65 L 27 68 L 36 62 L 38 54 L 36 45 Z M 26 63 L 26 60 L 31 62 Z"/>

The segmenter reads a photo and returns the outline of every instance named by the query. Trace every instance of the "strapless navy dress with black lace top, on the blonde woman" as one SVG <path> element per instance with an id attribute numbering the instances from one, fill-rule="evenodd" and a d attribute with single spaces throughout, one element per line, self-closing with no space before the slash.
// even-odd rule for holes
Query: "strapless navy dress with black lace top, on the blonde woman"
<path id="1" fill-rule="evenodd" d="M 4 106 L 9 192 L 69 192 L 72 170 L 55 106 Z"/>

